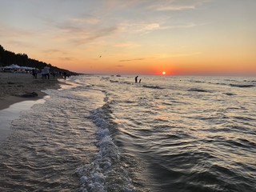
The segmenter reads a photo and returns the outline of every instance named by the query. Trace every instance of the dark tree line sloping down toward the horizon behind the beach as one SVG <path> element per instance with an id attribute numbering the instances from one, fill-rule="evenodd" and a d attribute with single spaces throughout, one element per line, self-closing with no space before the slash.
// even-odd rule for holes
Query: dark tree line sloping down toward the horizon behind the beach
<path id="1" fill-rule="evenodd" d="M 0 45 L 0 66 L 10 66 L 11 64 L 17 64 L 18 66 L 30 66 L 38 69 L 42 69 L 44 66 L 49 66 L 50 70 L 75 74 L 69 70 L 52 66 L 50 63 L 40 62 L 34 58 L 29 58 L 27 54 L 15 54 L 10 50 L 5 50 L 3 46 Z"/>

